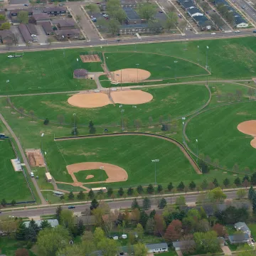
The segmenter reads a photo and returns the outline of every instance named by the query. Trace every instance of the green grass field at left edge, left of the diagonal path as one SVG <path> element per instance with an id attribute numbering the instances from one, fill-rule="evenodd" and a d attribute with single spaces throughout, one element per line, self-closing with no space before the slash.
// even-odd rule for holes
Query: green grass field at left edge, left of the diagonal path
<path id="1" fill-rule="evenodd" d="M 11 203 L 14 199 L 18 201 L 32 201 L 33 198 L 29 191 L 22 171 L 14 171 L 11 159 L 15 159 L 14 150 L 8 139 L 0 140 L 0 198 L 6 199 Z"/>

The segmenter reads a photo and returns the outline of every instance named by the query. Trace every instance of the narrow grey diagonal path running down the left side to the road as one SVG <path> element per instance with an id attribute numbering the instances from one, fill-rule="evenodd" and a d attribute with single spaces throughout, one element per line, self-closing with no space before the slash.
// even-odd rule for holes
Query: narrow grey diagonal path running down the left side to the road
<path id="1" fill-rule="evenodd" d="M 23 159 L 23 163 L 26 165 L 26 168 L 28 169 L 28 173 L 31 174 L 31 166 L 28 164 L 28 161 L 26 159 L 26 155 L 23 151 L 23 148 L 21 146 L 21 142 L 19 141 L 18 137 L 16 137 L 16 134 L 14 133 L 14 131 L 11 129 L 11 127 L 9 126 L 9 124 L 6 122 L 6 119 L 4 119 L 4 117 L 2 116 L 2 114 L 0 113 L 0 119 L 1 121 L 4 123 L 4 125 L 6 126 L 6 128 L 9 130 L 11 136 L 14 138 L 15 142 L 17 143 L 18 145 L 18 150 L 21 152 L 21 156 L 22 156 L 22 159 Z M 36 188 L 36 192 L 38 193 L 38 196 L 40 197 L 41 199 L 41 203 L 42 205 L 46 205 L 46 200 L 45 198 L 43 197 L 41 191 L 40 191 L 40 188 L 38 187 L 38 183 L 36 182 L 35 178 L 31 178 L 31 181 L 33 182 L 35 188 Z"/>

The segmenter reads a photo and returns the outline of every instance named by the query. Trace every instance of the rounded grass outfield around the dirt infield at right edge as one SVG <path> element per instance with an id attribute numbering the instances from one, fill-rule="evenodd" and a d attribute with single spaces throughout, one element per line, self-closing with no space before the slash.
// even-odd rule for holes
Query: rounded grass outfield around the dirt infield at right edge
<path id="1" fill-rule="evenodd" d="M 220 166 L 228 169 L 238 163 L 240 172 L 246 166 L 250 168 L 249 173 L 253 172 L 256 149 L 250 146 L 252 137 L 239 132 L 237 126 L 240 122 L 255 119 L 255 108 L 256 102 L 241 102 L 209 109 L 193 117 L 186 128 L 188 146 L 196 151 L 198 139 L 198 154 L 210 156 L 212 161 L 219 159 Z"/>

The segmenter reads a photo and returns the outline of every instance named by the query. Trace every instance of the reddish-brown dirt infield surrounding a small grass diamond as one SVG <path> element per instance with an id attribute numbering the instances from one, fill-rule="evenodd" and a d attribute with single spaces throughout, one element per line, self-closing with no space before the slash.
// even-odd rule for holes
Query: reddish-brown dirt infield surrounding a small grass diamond
<path id="1" fill-rule="evenodd" d="M 78 184 L 80 182 L 78 182 L 74 173 L 77 173 L 78 171 L 100 169 L 101 166 L 104 166 L 104 171 L 108 176 L 107 180 L 103 181 L 104 183 L 127 181 L 127 178 L 128 178 L 127 171 L 125 171 L 119 166 L 115 166 L 114 164 L 106 164 L 106 163 L 100 163 L 100 162 L 84 162 L 84 163 L 78 163 L 78 164 L 70 164 L 66 167 L 68 170 L 68 174 L 70 174 L 70 176 L 73 178 L 74 183 Z M 88 182 L 88 184 L 89 183 L 101 183 L 101 181 Z M 87 183 L 83 183 L 83 184 L 87 184 Z"/>

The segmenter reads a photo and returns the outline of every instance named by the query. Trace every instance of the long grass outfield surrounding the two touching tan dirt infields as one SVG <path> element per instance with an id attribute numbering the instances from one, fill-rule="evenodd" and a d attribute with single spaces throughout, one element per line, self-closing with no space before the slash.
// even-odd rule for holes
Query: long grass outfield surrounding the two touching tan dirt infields
<path id="1" fill-rule="evenodd" d="M 153 95 L 151 102 L 137 105 L 137 108 L 133 105 L 123 105 L 122 117 L 130 126 L 134 125 L 134 119 L 139 119 L 142 125 L 148 125 L 149 122 L 159 123 L 159 119 L 167 121 L 183 117 L 201 108 L 209 98 L 209 92 L 202 84 L 154 87 L 144 91 Z M 121 123 L 122 117 L 118 104 L 84 109 L 70 106 L 67 101 L 69 97 L 70 95 L 65 94 L 11 97 L 11 102 L 18 109 L 22 107 L 24 113 L 30 114 L 33 110 L 35 117 L 40 119 L 48 117 L 50 122 L 59 123 L 60 116 L 63 116 L 63 122 L 70 125 L 75 113 L 78 117 L 78 125 L 87 126 L 90 120 L 96 125 L 117 126 Z"/>

